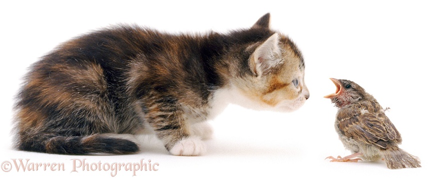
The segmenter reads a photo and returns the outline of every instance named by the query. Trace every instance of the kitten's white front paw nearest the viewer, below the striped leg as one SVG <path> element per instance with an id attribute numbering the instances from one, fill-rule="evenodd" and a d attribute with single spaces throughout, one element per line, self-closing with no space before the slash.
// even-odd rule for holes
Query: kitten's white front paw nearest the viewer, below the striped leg
<path id="1" fill-rule="evenodd" d="M 198 136 L 190 136 L 178 141 L 171 149 L 173 155 L 195 156 L 206 151 L 204 142 Z"/>

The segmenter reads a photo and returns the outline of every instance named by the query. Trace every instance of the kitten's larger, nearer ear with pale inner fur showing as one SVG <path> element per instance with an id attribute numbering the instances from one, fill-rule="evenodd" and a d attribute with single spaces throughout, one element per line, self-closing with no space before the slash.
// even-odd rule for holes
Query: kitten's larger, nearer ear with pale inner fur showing
<path id="1" fill-rule="evenodd" d="M 250 69 L 256 76 L 269 73 L 272 68 L 282 62 L 282 57 L 279 57 L 280 53 L 279 34 L 274 33 L 255 49 L 249 61 Z"/>

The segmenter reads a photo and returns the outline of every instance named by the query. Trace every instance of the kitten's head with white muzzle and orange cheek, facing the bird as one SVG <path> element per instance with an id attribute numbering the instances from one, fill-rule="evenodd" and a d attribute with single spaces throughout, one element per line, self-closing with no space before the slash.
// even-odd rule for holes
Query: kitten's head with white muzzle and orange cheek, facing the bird
<path id="1" fill-rule="evenodd" d="M 269 29 L 270 15 L 262 16 L 250 30 L 267 31 L 269 37 L 243 49 L 247 61 L 239 77 L 231 82 L 238 104 L 255 109 L 293 111 L 309 98 L 304 82 L 304 61 L 287 37 Z M 247 67 L 245 67 L 247 65 Z M 239 98 L 238 98 L 239 97 Z"/>

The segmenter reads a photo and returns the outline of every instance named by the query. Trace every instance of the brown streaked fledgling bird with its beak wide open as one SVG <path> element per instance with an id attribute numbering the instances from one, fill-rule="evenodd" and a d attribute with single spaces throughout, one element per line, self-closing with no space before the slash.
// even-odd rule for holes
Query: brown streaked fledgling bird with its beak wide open
<path id="1" fill-rule="evenodd" d="M 421 167 L 418 157 L 400 149 L 400 133 L 381 105 L 357 83 L 330 78 L 336 92 L 324 96 L 338 107 L 335 128 L 346 149 L 353 154 L 326 157 L 331 161 L 357 162 L 384 159 L 388 168 Z M 360 158 L 355 158 L 360 157 Z"/>

